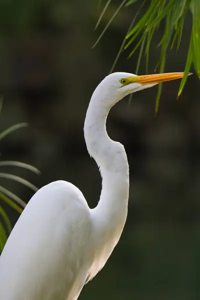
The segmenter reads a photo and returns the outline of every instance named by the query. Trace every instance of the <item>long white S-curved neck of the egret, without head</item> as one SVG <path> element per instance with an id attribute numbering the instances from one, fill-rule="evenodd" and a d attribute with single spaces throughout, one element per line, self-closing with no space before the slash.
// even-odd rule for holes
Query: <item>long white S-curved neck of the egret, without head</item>
<path id="1" fill-rule="evenodd" d="M 101 95 L 102 96 L 102 95 Z M 128 202 L 128 162 L 124 147 L 111 140 L 105 123 L 110 107 L 95 92 L 90 100 L 84 122 L 84 137 L 89 154 L 99 166 L 102 190 L 97 206 L 91 209 L 94 226 L 96 268 L 104 265 L 122 232 Z"/>

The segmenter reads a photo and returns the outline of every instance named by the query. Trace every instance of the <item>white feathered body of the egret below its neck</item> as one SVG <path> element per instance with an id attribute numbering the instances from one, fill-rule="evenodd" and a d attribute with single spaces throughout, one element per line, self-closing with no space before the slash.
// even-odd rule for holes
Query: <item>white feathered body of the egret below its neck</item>
<path id="1" fill-rule="evenodd" d="M 90 230 L 89 208 L 77 187 L 59 180 L 39 189 L 1 254 L 0 299 L 76 299 L 93 257 Z"/>

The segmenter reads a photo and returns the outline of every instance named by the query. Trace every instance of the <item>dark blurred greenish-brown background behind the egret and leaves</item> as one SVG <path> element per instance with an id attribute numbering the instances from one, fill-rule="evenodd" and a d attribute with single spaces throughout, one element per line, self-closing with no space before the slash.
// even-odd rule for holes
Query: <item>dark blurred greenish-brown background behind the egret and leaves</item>
<path id="1" fill-rule="evenodd" d="M 139 3 L 121 9 L 99 44 L 91 47 L 120 2 L 111 1 L 94 31 L 105 1 L 98 9 L 98 0 L 0 0 L 0 130 L 29 124 L 0 141 L 1 159 L 33 164 L 41 175 L 15 167 L 6 171 L 38 187 L 70 181 L 90 207 L 98 201 L 101 178 L 85 147 L 85 112 Z M 149 73 L 159 58 L 156 45 L 163 26 L 151 43 Z M 184 70 L 190 29 L 188 13 L 179 51 L 167 53 L 166 72 Z M 122 53 L 115 71 L 135 71 L 138 52 L 127 60 L 128 54 Z M 199 299 L 200 84 L 194 73 L 176 100 L 179 82 L 163 84 L 156 116 L 156 87 L 133 94 L 130 105 L 127 98 L 121 100 L 109 113 L 108 134 L 123 143 L 129 161 L 128 218 L 114 252 L 83 288 L 80 300 Z M 1 184 L 26 202 L 32 195 L 20 183 L 1 179 Z M 18 213 L 9 207 L 6 211 L 14 224 Z"/>

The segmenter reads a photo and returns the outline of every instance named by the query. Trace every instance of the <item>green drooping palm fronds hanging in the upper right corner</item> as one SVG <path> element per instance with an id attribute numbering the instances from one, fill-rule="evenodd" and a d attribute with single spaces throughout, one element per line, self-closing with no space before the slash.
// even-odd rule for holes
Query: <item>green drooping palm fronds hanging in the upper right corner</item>
<path id="1" fill-rule="evenodd" d="M 129 7 L 135 2 L 136 0 L 129 0 L 124 4 L 125 6 Z M 107 5 L 108 4 L 109 3 L 107 2 Z M 158 47 L 160 47 L 160 58 L 155 67 L 155 69 L 159 67 L 159 72 L 163 72 L 165 60 L 166 60 L 166 50 L 168 48 L 170 49 L 173 48 L 175 44 L 176 44 L 176 51 L 178 50 L 182 38 L 184 18 L 189 11 L 191 11 L 192 13 L 192 30 L 191 30 L 190 44 L 188 47 L 187 59 L 185 62 L 184 76 L 180 82 L 179 90 L 177 93 L 177 95 L 179 96 L 186 83 L 187 73 L 192 63 L 200 79 L 200 59 L 199 59 L 200 57 L 200 34 L 199 34 L 200 0 L 151 0 L 148 8 L 140 17 L 140 19 L 137 21 L 137 23 L 132 24 L 131 28 L 129 28 L 128 30 L 128 33 L 126 33 L 125 39 L 122 42 L 122 46 L 117 54 L 113 67 L 116 64 L 121 51 L 123 49 L 129 48 L 137 39 L 137 43 L 136 45 L 134 45 L 133 49 L 130 50 L 128 57 L 132 56 L 137 48 L 139 47 L 140 49 L 142 48 L 142 52 L 143 52 L 143 48 L 145 48 L 144 55 L 146 56 L 146 71 L 147 71 L 150 42 L 153 38 L 155 29 L 159 28 L 160 22 L 164 20 L 165 28 L 163 31 L 162 38 L 158 43 Z M 102 37 L 104 32 L 105 30 L 102 31 L 97 41 L 99 41 L 99 39 Z M 141 60 L 141 50 L 139 52 L 137 69 L 139 68 L 140 60 Z M 155 101 L 155 111 L 157 111 L 159 106 L 160 94 L 161 94 L 161 84 L 158 85 L 158 92 Z"/>

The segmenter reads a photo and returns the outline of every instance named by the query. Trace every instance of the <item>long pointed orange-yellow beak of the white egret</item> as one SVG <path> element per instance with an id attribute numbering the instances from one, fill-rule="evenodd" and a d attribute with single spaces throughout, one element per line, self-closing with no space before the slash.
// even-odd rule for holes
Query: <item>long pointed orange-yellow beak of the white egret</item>
<path id="1" fill-rule="evenodd" d="M 188 76 L 192 73 L 188 73 Z M 142 85 L 146 84 L 154 84 L 169 80 L 174 80 L 178 78 L 182 78 L 184 75 L 184 72 L 174 72 L 174 73 L 163 73 L 163 74 L 151 74 L 151 75 L 140 75 L 140 76 L 132 76 L 128 77 L 128 81 L 130 82 L 136 82 L 140 83 Z"/>

